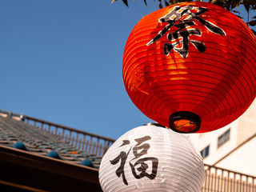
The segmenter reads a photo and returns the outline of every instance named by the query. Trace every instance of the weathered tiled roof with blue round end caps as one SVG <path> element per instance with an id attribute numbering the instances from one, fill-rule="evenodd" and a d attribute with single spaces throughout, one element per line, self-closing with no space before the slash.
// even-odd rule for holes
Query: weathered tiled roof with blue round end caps
<path id="1" fill-rule="evenodd" d="M 60 158 L 71 162 L 98 169 L 102 157 L 78 150 L 70 143 L 58 139 L 54 134 L 40 130 L 22 120 L 0 115 L 0 145 L 27 150 L 52 158 Z M 92 162 L 92 165 L 90 163 Z"/>

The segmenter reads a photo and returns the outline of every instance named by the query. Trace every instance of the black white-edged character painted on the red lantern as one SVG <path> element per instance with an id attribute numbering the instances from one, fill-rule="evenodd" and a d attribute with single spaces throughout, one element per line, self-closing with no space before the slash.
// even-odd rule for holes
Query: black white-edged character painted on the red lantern
<path id="1" fill-rule="evenodd" d="M 193 19 L 201 22 L 203 26 L 206 26 L 207 30 L 210 30 L 210 32 L 214 34 L 219 34 L 222 36 L 226 35 L 221 28 L 199 17 L 199 15 L 204 14 L 206 11 L 208 11 L 208 9 L 206 9 L 205 7 L 174 6 L 173 10 L 171 10 L 168 14 L 159 19 L 159 22 L 167 22 L 168 24 L 146 45 L 150 46 L 150 44 L 158 41 L 158 39 L 162 38 L 162 36 L 166 34 L 166 32 L 170 30 L 172 26 L 175 26 L 176 28 L 178 28 L 178 30 L 175 30 L 173 33 L 167 34 L 167 39 L 170 40 L 170 43 L 166 42 L 163 47 L 164 54 L 166 54 L 166 56 L 170 54 L 171 50 L 175 50 L 178 52 L 178 54 L 182 56 L 182 58 L 186 58 L 189 52 L 190 43 L 192 43 L 192 45 L 199 52 L 204 52 L 206 50 L 206 46 L 203 42 L 190 39 L 190 35 L 202 35 L 202 32 L 200 30 L 190 27 L 195 25 L 195 22 L 192 21 Z M 178 47 L 179 44 L 182 44 L 182 46 Z"/>

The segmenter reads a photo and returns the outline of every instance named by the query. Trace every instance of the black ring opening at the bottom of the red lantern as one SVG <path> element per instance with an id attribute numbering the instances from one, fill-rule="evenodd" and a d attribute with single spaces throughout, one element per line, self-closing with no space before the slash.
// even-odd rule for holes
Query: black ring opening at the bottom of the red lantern
<path id="1" fill-rule="evenodd" d="M 178 111 L 170 115 L 169 126 L 171 130 L 182 134 L 195 133 L 200 130 L 201 118 L 190 111 Z"/>

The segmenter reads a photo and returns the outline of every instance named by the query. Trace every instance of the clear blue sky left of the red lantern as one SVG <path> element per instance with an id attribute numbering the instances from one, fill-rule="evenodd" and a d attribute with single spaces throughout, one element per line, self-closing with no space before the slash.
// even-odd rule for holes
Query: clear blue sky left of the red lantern
<path id="1" fill-rule="evenodd" d="M 110 138 L 153 122 L 126 94 L 122 54 L 158 1 L 0 2 L 1 110 Z"/>

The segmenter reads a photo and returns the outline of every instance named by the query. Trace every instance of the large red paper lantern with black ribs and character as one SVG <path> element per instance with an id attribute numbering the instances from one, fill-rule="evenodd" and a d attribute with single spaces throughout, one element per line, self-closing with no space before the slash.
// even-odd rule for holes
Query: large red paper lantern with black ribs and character
<path id="1" fill-rule="evenodd" d="M 126 42 L 122 74 L 142 113 L 181 133 L 233 122 L 256 87 L 256 39 L 240 18 L 183 2 L 142 18 Z"/>

